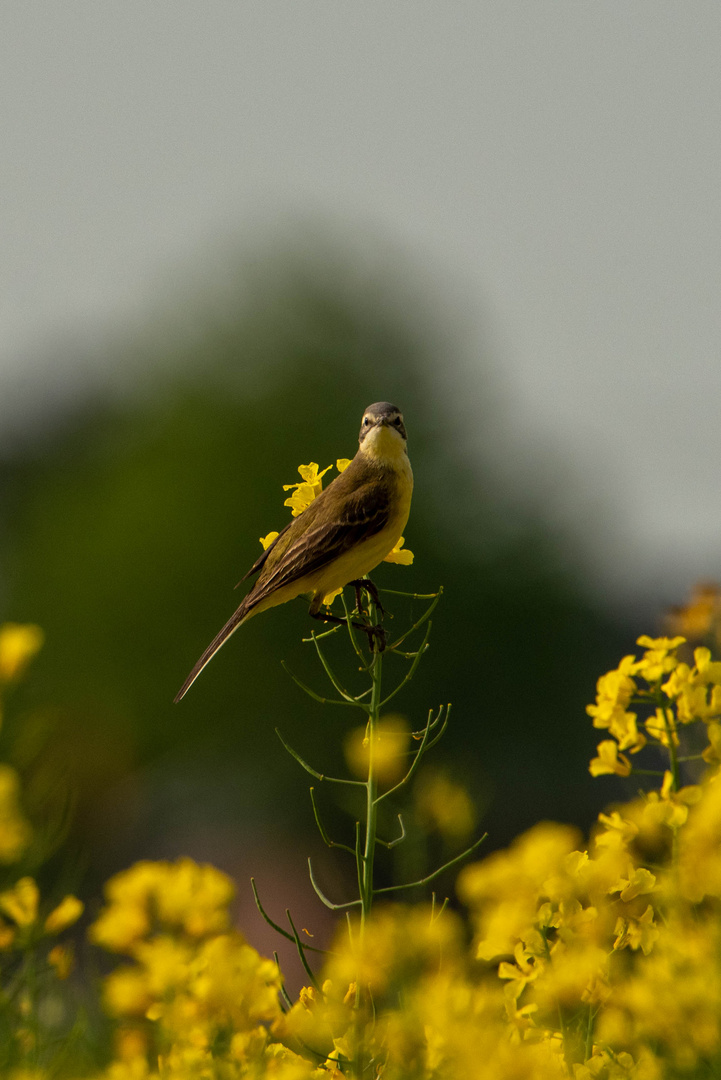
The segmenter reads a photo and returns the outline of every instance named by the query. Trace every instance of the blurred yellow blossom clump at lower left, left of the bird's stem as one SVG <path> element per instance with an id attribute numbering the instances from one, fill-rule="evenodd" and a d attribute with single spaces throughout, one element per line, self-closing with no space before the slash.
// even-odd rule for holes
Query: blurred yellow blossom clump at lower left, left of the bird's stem
<path id="1" fill-rule="evenodd" d="M 313 1075 L 271 1036 L 281 975 L 230 929 L 233 891 L 190 859 L 137 863 L 108 881 L 90 937 L 132 961 L 105 980 L 106 1011 L 120 1022 L 108 1080 Z"/>

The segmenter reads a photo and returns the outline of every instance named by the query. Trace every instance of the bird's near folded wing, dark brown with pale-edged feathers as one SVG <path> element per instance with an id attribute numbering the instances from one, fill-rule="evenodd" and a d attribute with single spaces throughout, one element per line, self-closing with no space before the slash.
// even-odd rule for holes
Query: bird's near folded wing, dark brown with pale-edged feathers
<path id="1" fill-rule="evenodd" d="M 313 503 L 304 514 L 312 508 Z M 362 484 L 343 500 L 334 519 L 318 524 L 310 521 L 308 528 L 290 542 L 275 565 L 269 567 L 267 564 L 248 594 L 249 606 L 255 607 L 270 593 L 322 569 L 360 541 L 376 536 L 387 525 L 390 508 L 391 492 L 385 485 Z"/>

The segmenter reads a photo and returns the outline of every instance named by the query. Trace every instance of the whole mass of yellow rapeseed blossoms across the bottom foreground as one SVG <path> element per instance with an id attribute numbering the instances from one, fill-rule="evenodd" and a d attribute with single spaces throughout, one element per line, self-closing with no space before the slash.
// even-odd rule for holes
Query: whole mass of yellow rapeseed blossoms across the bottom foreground
<path id="1" fill-rule="evenodd" d="M 639 638 L 641 659 L 626 657 L 599 679 L 588 710 L 610 734 L 599 746 L 607 767 L 591 764 L 591 771 L 627 773 L 627 753 L 655 746 L 669 764 L 657 773 L 657 788 L 601 813 L 588 843 L 571 826 L 542 822 L 507 850 L 465 867 L 458 895 L 470 913 L 470 945 L 460 915 L 376 905 L 364 924 L 341 921 L 312 985 L 291 1003 L 276 963 L 232 928 L 233 885 L 225 874 L 189 859 L 141 862 L 107 883 L 105 907 L 89 931 L 92 942 L 122 957 L 103 990 L 113 1058 L 99 1074 L 90 1066 L 71 1072 L 40 1053 L 42 1010 L 28 989 L 36 975 L 27 986 L 23 980 L 35 972 L 40 944 L 70 927 L 82 903 L 66 896 L 43 916 L 38 886 L 21 877 L 0 891 L 0 1021 L 15 1020 L 19 1048 L 17 1068 L 2 1075 L 721 1076 L 721 663 L 705 646 L 681 659 L 684 644 L 678 636 Z M 642 721 L 631 706 L 644 708 Z M 708 745 L 684 758 L 679 751 L 694 724 Z M 385 769 L 382 782 L 393 784 L 408 739 L 405 720 L 387 716 L 373 745 L 358 729 L 346 753 L 357 775 L 372 754 Z M 706 774 L 681 786 L 689 757 Z M 18 798 L 10 775 L 9 806 Z M 444 774 L 431 775 L 423 798 L 441 832 L 446 811 L 472 815 Z M 0 822 L 1 812 L 0 769 Z M 46 960 L 51 973 L 67 975 L 66 946 L 55 945 Z M 8 1004 L 13 995 L 16 1007 Z M 0 1043 L 0 1059 L 2 1053 Z"/>

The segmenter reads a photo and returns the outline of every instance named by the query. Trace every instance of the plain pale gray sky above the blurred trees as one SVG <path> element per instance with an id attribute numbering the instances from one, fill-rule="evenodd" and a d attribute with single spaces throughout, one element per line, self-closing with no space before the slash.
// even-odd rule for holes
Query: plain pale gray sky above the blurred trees
<path id="1" fill-rule="evenodd" d="M 327 220 L 425 267 L 470 383 L 490 333 L 495 457 L 600 588 L 681 599 L 721 577 L 720 56 L 716 2 L 4 0 L 0 426 L 117 384 L 54 342 Z"/>

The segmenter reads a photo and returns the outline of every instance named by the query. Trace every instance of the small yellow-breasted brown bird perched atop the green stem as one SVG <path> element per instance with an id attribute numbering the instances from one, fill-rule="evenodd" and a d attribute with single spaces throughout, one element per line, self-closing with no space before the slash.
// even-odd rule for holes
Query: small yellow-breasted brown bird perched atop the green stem
<path id="1" fill-rule="evenodd" d="M 376 402 L 363 414 L 358 449 L 346 469 L 277 535 L 242 581 L 258 579 L 182 684 L 180 701 L 218 649 L 248 619 L 296 596 L 310 598 L 310 615 L 345 622 L 322 612 L 323 599 L 349 583 L 363 584 L 377 599 L 370 573 L 400 539 L 413 491 L 403 414 L 390 402 Z M 378 627 L 363 627 L 372 635 Z M 381 637 L 382 647 L 382 637 Z"/>

